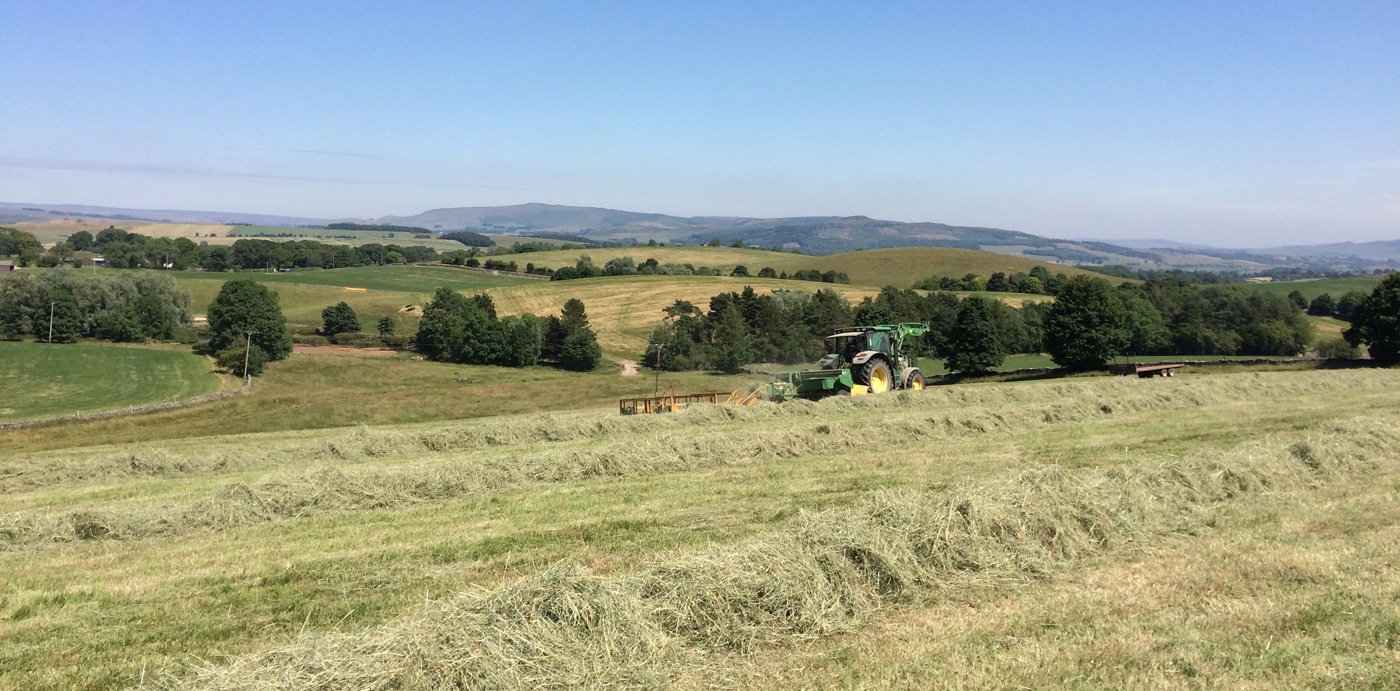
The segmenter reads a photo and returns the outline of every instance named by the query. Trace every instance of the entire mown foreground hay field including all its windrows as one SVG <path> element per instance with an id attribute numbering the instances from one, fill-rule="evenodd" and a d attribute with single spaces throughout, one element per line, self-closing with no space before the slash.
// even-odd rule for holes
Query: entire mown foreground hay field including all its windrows
<path id="1" fill-rule="evenodd" d="M 1397 385 L 1089 378 L 11 453 L 0 687 L 1394 687 Z"/>

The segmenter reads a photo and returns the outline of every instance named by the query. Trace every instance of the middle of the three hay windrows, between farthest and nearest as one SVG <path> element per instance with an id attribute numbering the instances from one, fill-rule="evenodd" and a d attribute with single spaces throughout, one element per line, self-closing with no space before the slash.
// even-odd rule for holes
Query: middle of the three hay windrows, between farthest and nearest
<path id="1" fill-rule="evenodd" d="M 1110 392 L 1121 389 L 1119 382 L 1113 380 L 1095 383 L 1109 385 Z M 998 389 L 969 387 L 969 392 L 951 392 L 942 396 L 944 403 L 951 400 L 973 406 L 963 410 L 939 410 L 939 406 L 930 406 L 921 393 L 906 393 L 855 401 L 827 399 L 798 407 L 795 411 L 787 406 L 769 404 L 753 408 L 700 407 L 680 415 L 629 418 L 589 420 L 552 414 L 543 417 L 550 424 L 532 427 L 528 434 L 512 431 L 517 422 L 440 431 L 356 428 L 326 443 L 322 455 L 315 457 L 329 456 L 340 460 L 399 457 L 421 455 L 427 446 L 448 450 L 437 452 L 437 460 L 399 467 L 340 470 L 328 466 L 294 476 L 273 476 L 256 483 L 235 483 L 183 505 L 139 509 L 83 505 L 59 512 L 0 513 L 0 548 L 227 530 L 333 512 L 391 509 L 420 502 L 482 497 L 531 483 L 638 477 L 766 459 L 914 448 L 938 439 L 1072 424 L 1124 411 L 1197 406 L 1207 394 L 1215 400 L 1240 397 L 1247 400 L 1260 394 L 1252 378 L 1243 383 L 1245 386 L 1229 390 L 1232 393 L 1228 396 L 1211 387 L 1200 390 L 1194 386 L 1186 386 L 1183 390 L 1135 387 L 1131 389 L 1131 396 L 1112 399 L 1112 406 L 1102 386 L 1057 383 L 1050 387 L 1049 400 L 1004 410 L 976 407 L 987 400 L 1005 399 L 1004 393 L 997 393 Z M 1273 393 L 1301 386 L 1291 379 L 1267 380 L 1267 385 L 1270 387 L 1267 390 Z M 871 408 L 874 414 L 837 417 L 826 410 L 829 407 Z M 1106 407 L 1112 408 L 1112 413 L 1106 413 Z M 741 424 L 713 424 L 729 420 L 739 420 Z M 764 432 L 755 435 L 749 422 L 760 420 L 767 421 L 763 425 Z M 686 428 L 686 434 L 673 434 L 678 428 Z M 521 441 L 522 436 L 525 442 Z M 480 448 L 486 448 L 487 452 L 472 450 Z M 162 467 L 183 463 L 168 452 L 154 449 L 151 453 L 165 459 Z M 230 462 L 221 459 L 220 463 Z M 102 515 L 98 529 L 91 529 L 90 522 L 81 519 L 94 513 Z"/>

